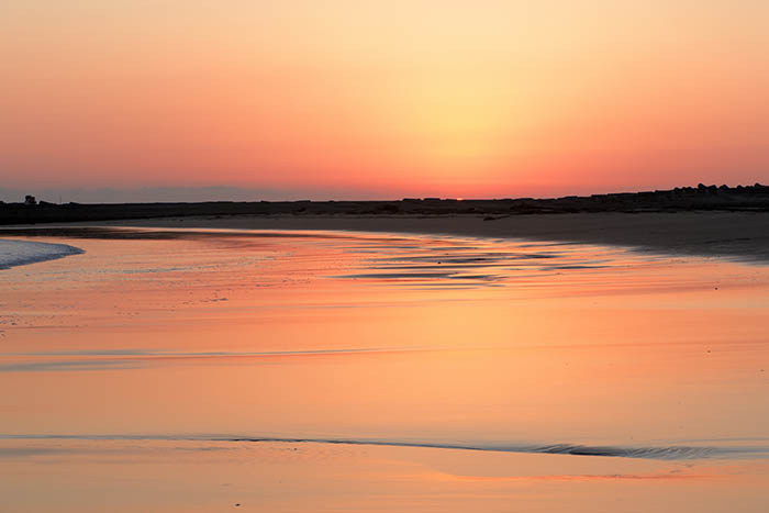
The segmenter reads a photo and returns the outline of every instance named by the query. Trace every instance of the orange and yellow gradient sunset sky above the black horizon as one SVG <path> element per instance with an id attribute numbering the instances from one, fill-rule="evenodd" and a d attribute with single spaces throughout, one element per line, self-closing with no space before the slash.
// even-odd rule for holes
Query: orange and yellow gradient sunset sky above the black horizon
<path id="1" fill-rule="evenodd" d="M 767 182 L 768 56 L 764 0 L 5 0 L 0 187 Z"/>

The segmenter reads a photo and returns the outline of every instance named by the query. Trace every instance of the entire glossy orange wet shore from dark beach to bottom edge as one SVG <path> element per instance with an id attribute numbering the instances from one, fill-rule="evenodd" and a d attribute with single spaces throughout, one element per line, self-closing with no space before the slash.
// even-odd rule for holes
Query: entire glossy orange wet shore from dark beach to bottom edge
<path id="1" fill-rule="evenodd" d="M 341 232 L 45 241 L 86 253 L 0 271 L 11 511 L 769 503 L 767 267 Z M 210 466 L 238 492 L 200 484 Z"/>

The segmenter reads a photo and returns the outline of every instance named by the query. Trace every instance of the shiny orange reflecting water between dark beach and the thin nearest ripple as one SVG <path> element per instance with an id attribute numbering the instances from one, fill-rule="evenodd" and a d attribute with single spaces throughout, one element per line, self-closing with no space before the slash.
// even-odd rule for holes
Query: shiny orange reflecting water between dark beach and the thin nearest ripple
<path id="1" fill-rule="evenodd" d="M 766 267 L 480 238 L 147 233 L 49 237 L 86 253 L 0 272 L 13 390 L 0 458 L 126 439 L 768 454 Z"/>

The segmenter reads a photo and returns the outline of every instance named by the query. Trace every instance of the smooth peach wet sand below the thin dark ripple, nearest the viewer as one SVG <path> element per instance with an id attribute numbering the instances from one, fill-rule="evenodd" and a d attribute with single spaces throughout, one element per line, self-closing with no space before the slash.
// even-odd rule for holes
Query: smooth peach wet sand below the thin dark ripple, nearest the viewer
<path id="1" fill-rule="evenodd" d="M 8 450 L 0 440 L 0 457 Z M 609 468 L 599 457 L 321 444 L 34 442 L 26 451 L 0 465 L 14 512 L 759 513 L 769 482 L 756 462 Z"/>

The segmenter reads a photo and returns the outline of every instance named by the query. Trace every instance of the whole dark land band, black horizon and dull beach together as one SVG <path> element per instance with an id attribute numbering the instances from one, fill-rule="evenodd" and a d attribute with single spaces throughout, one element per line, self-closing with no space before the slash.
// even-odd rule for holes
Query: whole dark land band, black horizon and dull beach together
<path id="1" fill-rule="evenodd" d="M 558 199 L 0 204 L 0 225 L 42 223 L 511 237 L 769 263 L 769 187 L 760 185 Z M 70 224 L 68 230 L 9 226 L 0 231 L 2 235 L 118 238 L 127 234 Z"/>

